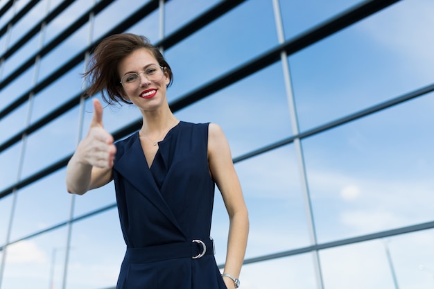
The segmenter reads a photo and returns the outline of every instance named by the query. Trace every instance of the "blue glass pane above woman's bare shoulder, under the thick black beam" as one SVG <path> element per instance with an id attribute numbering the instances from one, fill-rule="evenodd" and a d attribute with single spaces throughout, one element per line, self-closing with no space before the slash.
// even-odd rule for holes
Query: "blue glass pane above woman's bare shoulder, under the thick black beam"
<path id="1" fill-rule="evenodd" d="M 171 89 L 176 85 L 169 89 L 168 94 L 172 94 Z M 234 157 L 280 141 L 291 134 L 280 63 L 175 114 L 179 119 L 193 123 L 218 123 L 227 136 Z"/>

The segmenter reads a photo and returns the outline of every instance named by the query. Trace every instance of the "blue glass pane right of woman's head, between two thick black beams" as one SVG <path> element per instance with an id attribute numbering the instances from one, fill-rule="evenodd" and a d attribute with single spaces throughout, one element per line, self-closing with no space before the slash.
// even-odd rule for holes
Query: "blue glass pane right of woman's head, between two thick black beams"
<path id="1" fill-rule="evenodd" d="M 257 18 L 258 10 L 261 10 L 261 21 Z M 261 31 L 260 38 L 258 31 Z M 246 1 L 168 49 L 165 56 L 174 73 L 169 99 L 200 87 L 275 46 L 275 31 L 272 2 Z M 268 87 L 266 82 L 260 83 Z"/>

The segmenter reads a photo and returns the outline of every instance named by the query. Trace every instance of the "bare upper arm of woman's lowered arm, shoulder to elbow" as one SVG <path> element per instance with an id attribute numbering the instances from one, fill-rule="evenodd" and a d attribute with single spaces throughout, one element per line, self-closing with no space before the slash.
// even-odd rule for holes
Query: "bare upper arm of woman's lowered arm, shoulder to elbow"
<path id="1" fill-rule="evenodd" d="M 245 209 L 241 184 L 223 130 L 219 125 L 210 123 L 208 131 L 209 169 L 231 215 L 238 209 Z"/>

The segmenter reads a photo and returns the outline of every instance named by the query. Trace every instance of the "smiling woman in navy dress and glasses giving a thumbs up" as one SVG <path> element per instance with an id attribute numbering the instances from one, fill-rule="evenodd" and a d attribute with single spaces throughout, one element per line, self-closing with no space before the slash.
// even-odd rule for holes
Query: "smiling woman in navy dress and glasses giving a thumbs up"
<path id="1" fill-rule="evenodd" d="M 87 137 L 67 166 L 69 193 L 83 195 L 114 179 L 127 245 L 116 288 L 237 288 L 248 211 L 221 128 L 176 119 L 166 98 L 171 68 L 145 37 L 107 37 L 85 76 L 89 95 L 101 91 L 108 103 L 134 104 L 143 116 L 139 132 L 114 143 L 94 99 Z M 215 184 L 230 222 L 222 275 L 209 236 Z"/>

